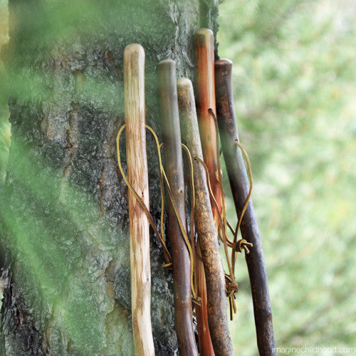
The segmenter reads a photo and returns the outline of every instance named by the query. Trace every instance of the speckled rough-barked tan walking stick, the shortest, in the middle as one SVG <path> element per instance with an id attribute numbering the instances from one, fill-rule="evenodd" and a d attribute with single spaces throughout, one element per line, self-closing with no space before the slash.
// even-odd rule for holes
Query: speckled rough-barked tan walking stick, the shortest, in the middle
<path id="1" fill-rule="evenodd" d="M 226 316 L 226 284 L 219 244 L 211 211 L 206 173 L 201 165 L 202 152 L 195 110 L 192 82 L 178 80 L 179 117 L 182 140 L 194 157 L 194 221 L 197 229 L 201 258 L 204 262 L 211 341 L 216 355 L 234 355 Z"/>

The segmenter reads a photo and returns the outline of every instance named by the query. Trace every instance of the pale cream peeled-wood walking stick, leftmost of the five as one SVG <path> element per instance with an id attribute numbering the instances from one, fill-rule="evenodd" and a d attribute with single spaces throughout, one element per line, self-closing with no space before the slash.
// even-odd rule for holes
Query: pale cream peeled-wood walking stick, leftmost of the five
<path id="1" fill-rule="evenodd" d="M 145 130 L 145 51 L 132 43 L 124 51 L 127 176 L 149 204 Z M 132 329 L 136 355 L 155 355 L 150 298 L 150 230 L 145 211 L 129 192 Z"/>

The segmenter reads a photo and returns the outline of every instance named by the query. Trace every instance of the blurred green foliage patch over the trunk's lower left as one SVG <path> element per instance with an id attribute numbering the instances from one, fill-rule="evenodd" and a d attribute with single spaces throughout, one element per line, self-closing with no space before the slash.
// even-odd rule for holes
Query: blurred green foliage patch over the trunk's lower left
<path id="1" fill-rule="evenodd" d="M 58 172 L 36 150 L 13 140 L 11 157 L 12 187 L 1 189 L 0 216 L 8 233 L 2 243 L 21 266 L 16 283 L 31 313 L 49 320 L 47 337 L 58 330 L 72 340 L 75 354 L 97 355 L 107 342 L 106 315 L 114 308 L 105 276 L 112 261 L 108 251 L 117 250 L 117 268 L 127 263 L 117 248 L 120 236 L 83 189 L 58 182 Z"/>

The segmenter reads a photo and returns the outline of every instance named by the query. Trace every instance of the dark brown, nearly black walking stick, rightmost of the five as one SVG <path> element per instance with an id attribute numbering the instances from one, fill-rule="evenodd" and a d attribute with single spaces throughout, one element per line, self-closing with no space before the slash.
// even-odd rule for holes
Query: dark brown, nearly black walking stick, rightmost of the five
<path id="1" fill-rule="evenodd" d="M 239 134 L 231 88 L 231 69 L 232 62 L 228 59 L 221 59 L 215 63 L 216 110 L 227 174 L 236 212 L 240 218 L 248 196 L 248 177 L 241 150 L 236 145 Z M 241 222 L 241 234 L 243 239 L 253 244 L 251 252 L 246 253 L 245 257 L 251 283 L 258 350 L 260 355 L 276 355 L 261 236 L 251 200 Z M 236 242 L 238 241 L 234 241 Z"/>

